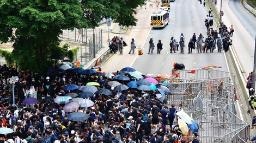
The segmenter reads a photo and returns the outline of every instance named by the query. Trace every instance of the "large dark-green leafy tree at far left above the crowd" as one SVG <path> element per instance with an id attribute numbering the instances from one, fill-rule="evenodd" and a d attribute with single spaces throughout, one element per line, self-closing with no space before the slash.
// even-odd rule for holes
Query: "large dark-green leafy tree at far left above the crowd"
<path id="1" fill-rule="evenodd" d="M 0 0 L 0 41 L 14 42 L 20 68 L 44 73 L 62 29 L 82 27 L 82 14 L 78 0 Z"/>

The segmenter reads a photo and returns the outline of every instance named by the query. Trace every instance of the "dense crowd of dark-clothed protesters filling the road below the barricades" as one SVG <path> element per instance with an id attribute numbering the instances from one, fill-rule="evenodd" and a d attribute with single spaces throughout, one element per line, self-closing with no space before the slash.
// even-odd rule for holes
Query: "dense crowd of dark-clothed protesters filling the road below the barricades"
<path id="1" fill-rule="evenodd" d="M 56 67 L 55 64 L 51 68 Z M 174 124 L 175 113 L 183 110 L 182 105 L 179 105 L 179 109 L 175 105 L 164 106 L 157 99 L 155 90 L 147 93 L 136 89 L 117 92 L 108 86 L 108 82 L 114 80 L 109 77 L 78 73 L 40 76 L 37 72 L 17 72 L 14 66 L 6 67 L 2 67 L 2 75 L 6 75 L 2 77 L 6 80 L 10 76 L 18 76 L 19 81 L 15 83 L 15 106 L 11 106 L 13 98 L 10 86 L 4 79 L 0 81 L 0 127 L 8 127 L 14 131 L 0 134 L 0 142 L 168 143 L 175 142 L 182 135 L 179 125 L 176 122 Z M 89 98 L 94 106 L 77 109 L 78 112 L 86 113 L 88 120 L 69 120 L 69 113 L 62 108 L 64 105 L 54 102 L 54 99 L 69 92 L 81 93 L 80 90 L 64 90 L 67 85 L 86 86 L 92 81 L 100 84 L 98 89 L 111 89 L 112 95 L 94 94 Z M 122 83 L 125 82 L 128 81 Z M 23 105 L 21 101 L 28 97 L 26 91 L 31 86 L 38 93 L 38 97 L 41 97 L 38 98 L 40 102 L 33 106 Z M 197 141 L 196 133 L 193 137 L 193 142 Z"/>

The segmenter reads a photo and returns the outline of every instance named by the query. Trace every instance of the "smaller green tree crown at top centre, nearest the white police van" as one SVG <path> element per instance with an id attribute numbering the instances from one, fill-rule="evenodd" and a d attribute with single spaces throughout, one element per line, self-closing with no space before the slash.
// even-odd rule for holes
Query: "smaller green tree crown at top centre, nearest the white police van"
<path id="1" fill-rule="evenodd" d="M 134 17 L 136 8 L 143 5 L 145 0 L 82 0 L 86 24 L 89 28 L 95 28 L 103 18 L 111 17 L 119 25 L 136 25 Z"/>

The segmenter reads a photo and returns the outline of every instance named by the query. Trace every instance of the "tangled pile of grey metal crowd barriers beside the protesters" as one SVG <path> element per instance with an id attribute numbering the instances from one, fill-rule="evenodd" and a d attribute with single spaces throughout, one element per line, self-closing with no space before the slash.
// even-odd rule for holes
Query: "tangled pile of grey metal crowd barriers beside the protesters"
<path id="1" fill-rule="evenodd" d="M 233 73 L 220 70 L 181 70 L 179 77 L 164 81 L 172 93 L 167 106 L 182 104 L 198 122 L 200 142 L 246 142 L 249 125 L 236 116 L 234 79 Z"/>

